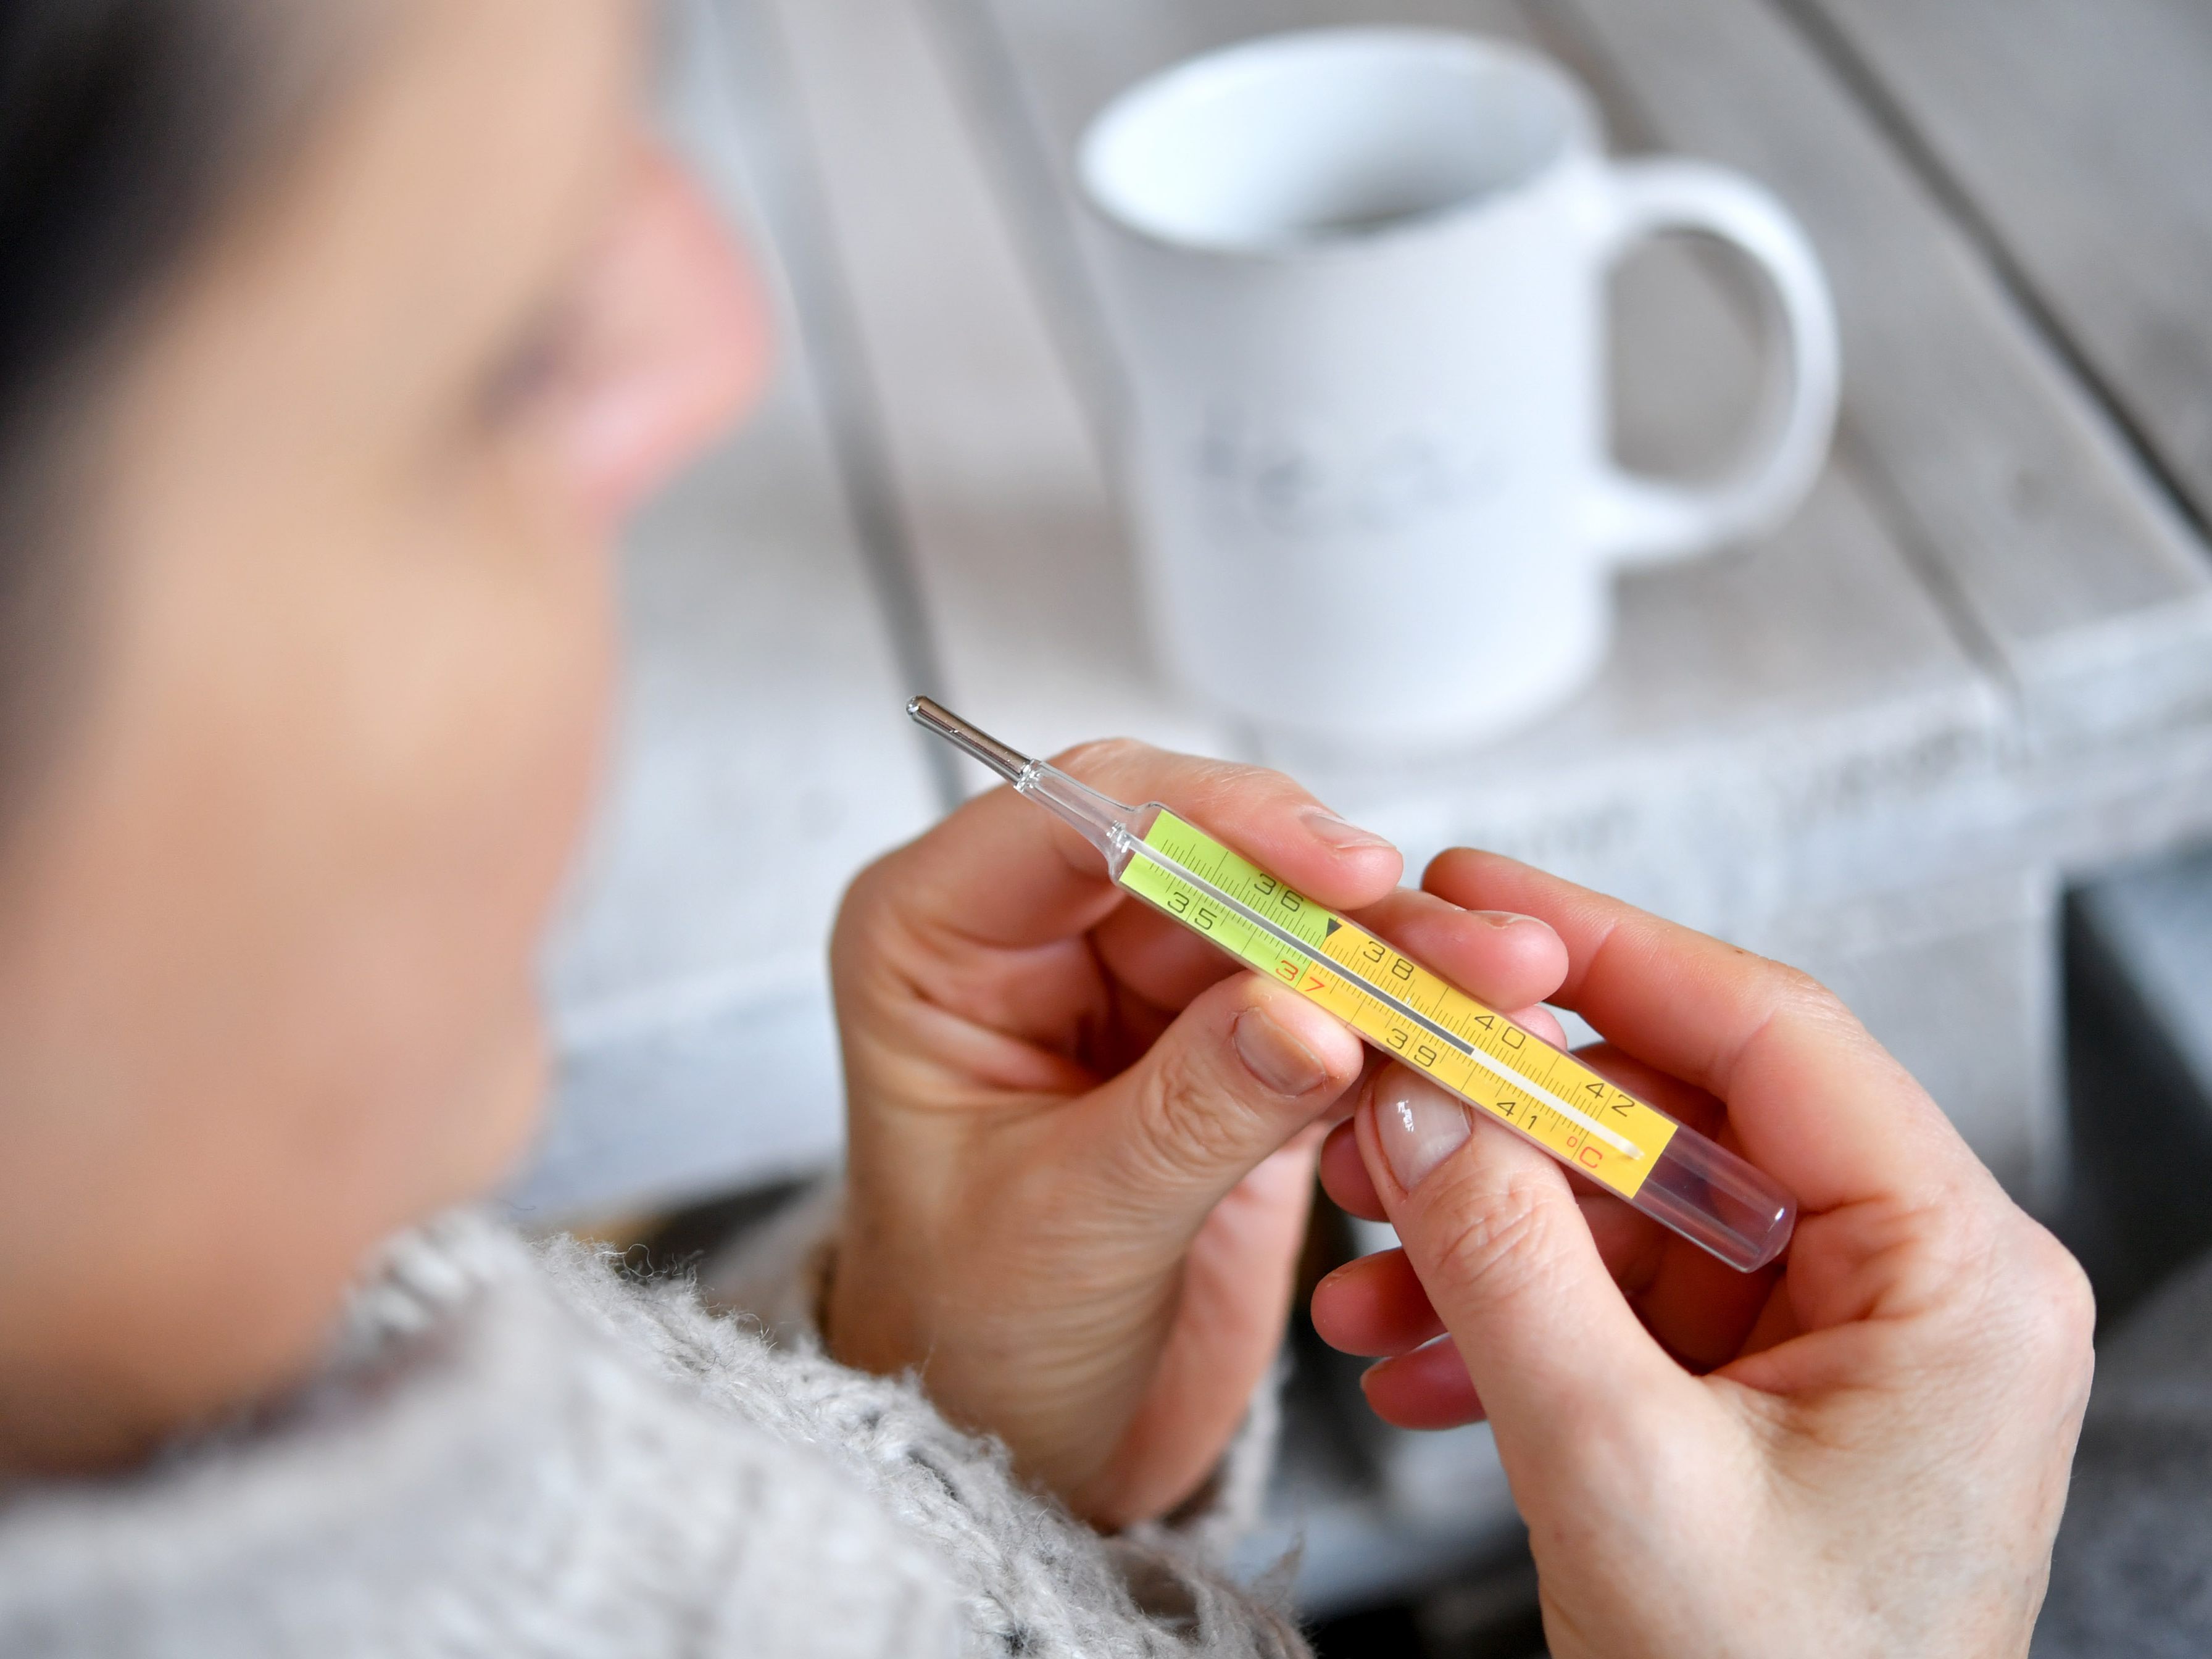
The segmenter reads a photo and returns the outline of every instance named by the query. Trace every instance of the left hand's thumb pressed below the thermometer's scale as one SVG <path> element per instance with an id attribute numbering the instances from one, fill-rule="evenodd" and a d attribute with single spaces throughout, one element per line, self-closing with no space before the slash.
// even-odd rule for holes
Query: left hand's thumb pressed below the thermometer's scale
<path id="1" fill-rule="evenodd" d="M 1363 1062 L 1360 1040 L 1296 991 L 1234 973 L 1177 1015 L 1128 1071 L 1099 1088 L 1097 1168 L 1130 1201 L 1197 1228 L 1230 1190 L 1334 1106 Z"/>

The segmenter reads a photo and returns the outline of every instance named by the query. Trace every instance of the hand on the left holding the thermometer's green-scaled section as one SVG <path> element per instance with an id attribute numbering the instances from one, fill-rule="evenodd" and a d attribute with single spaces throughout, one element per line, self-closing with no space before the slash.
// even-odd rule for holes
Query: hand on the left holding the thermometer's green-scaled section
<path id="1" fill-rule="evenodd" d="M 1396 849 L 1287 779 L 1137 743 L 1057 763 L 1164 801 L 1498 1006 L 1559 982 L 1546 925 L 1398 891 Z M 1166 1513 L 1281 1343 L 1358 1037 L 1128 898 L 1011 790 L 863 872 L 832 969 L 852 1117 L 832 1349 L 918 1369 L 1102 1526 Z"/>

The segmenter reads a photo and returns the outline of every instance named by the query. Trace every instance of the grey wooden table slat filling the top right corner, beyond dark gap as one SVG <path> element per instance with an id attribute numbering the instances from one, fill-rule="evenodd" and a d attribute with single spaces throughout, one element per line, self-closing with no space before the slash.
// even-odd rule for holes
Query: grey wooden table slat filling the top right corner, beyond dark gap
<path id="1" fill-rule="evenodd" d="M 2212 518 L 2212 7 L 1798 4 Z"/>

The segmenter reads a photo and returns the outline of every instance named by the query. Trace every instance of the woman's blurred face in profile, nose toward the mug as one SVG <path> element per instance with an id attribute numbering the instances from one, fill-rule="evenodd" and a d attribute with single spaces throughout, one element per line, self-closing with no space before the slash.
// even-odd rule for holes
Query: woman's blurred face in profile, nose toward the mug
<path id="1" fill-rule="evenodd" d="M 513 1161 L 611 531 L 759 374 L 628 0 L 383 11 L 102 411 L 91 661 L 0 849 L 0 1469 L 283 1383 Z"/>

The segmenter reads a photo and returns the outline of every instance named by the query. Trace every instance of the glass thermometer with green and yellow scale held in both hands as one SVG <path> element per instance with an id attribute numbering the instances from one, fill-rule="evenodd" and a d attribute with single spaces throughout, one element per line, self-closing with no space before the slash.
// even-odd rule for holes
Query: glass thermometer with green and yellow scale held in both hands
<path id="1" fill-rule="evenodd" d="M 1790 1243 L 1796 1199 L 1741 1157 L 1615 1088 L 1197 825 L 1159 803 L 1108 801 L 927 697 L 907 712 L 1079 830 L 1106 856 L 1113 880 L 1137 898 L 1294 987 L 1383 1053 L 1730 1267 L 1763 1267 Z"/>

